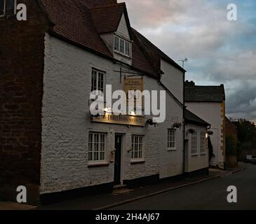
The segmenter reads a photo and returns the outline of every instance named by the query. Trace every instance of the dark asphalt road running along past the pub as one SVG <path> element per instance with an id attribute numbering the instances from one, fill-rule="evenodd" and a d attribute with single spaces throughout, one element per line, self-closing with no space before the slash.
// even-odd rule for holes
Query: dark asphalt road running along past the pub
<path id="1" fill-rule="evenodd" d="M 227 202 L 227 188 L 236 186 L 237 203 Z M 253 209 L 256 210 L 256 165 L 236 174 L 123 204 L 113 210 Z"/>

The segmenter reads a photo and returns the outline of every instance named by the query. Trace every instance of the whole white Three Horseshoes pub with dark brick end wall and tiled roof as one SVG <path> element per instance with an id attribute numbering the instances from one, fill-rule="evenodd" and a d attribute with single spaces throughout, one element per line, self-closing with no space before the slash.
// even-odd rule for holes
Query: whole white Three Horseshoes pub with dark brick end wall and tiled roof
<path id="1" fill-rule="evenodd" d="M 10 9 L 0 18 L 0 197 L 15 200 L 17 186 L 26 186 L 29 202 L 38 202 L 208 167 L 208 124 L 189 117 L 184 127 L 184 69 L 130 27 L 125 3 L 17 3 L 26 4 L 27 21 Z M 90 92 L 110 84 L 113 92 L 166 90 L 165 122 L 136 111 L 92 116 Z M 189 129 L 198 132 L 200 156 L 187 158 L 185 170 Z"/>

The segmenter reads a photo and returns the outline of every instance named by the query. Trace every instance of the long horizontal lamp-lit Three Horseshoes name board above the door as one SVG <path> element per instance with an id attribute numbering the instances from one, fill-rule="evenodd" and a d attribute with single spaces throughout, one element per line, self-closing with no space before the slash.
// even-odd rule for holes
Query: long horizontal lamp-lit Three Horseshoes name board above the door
<path id="1" fill-rule="evenodd" d="M 130 126 L 145 126 L 144 117 L 142 116 L 128 116 L 128 115 L 114 115 L 106 113 L 104 116 L 92 117 L 95 123 L 110 123 L 116 125 L 130 125 Z"/>

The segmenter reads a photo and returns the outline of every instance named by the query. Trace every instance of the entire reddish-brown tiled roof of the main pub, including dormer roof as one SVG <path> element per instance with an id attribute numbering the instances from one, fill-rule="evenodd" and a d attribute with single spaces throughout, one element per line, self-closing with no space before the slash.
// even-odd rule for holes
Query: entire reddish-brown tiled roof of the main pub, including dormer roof
<path id="1" fill-rule="evenodd" d="M 131 29 L 125 3 L 116 3 L 116 0 L 39 1 L 46 9 L 50 22 L 53 23 L 52 34 L 111 59 L 113 59 L 112 52 L 99 34 L 116 31 L 124 13 L 133 39 L 132 65 L 135 69 L 159 78 L 162 57 L 183 71 L 147 38 L 135 29 Z"/>

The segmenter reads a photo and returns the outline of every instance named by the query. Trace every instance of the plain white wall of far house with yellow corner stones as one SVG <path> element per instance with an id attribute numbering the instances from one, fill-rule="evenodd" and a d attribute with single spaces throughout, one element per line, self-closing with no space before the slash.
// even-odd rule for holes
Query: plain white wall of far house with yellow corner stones
<path id="1" fill-rule="evenodd" d="M 215 158 L 210 161 L 210 165 L 224 167 L 224 155 L 221 147 L 224 146 L 222 135 L 222 107 L 218 102 L 187 102 L 187 109 L 192 113 L 205 120 L 211 125 L 211 131 L 213 135 L 210 139 L 213 144 L 213 153 Z"/>

